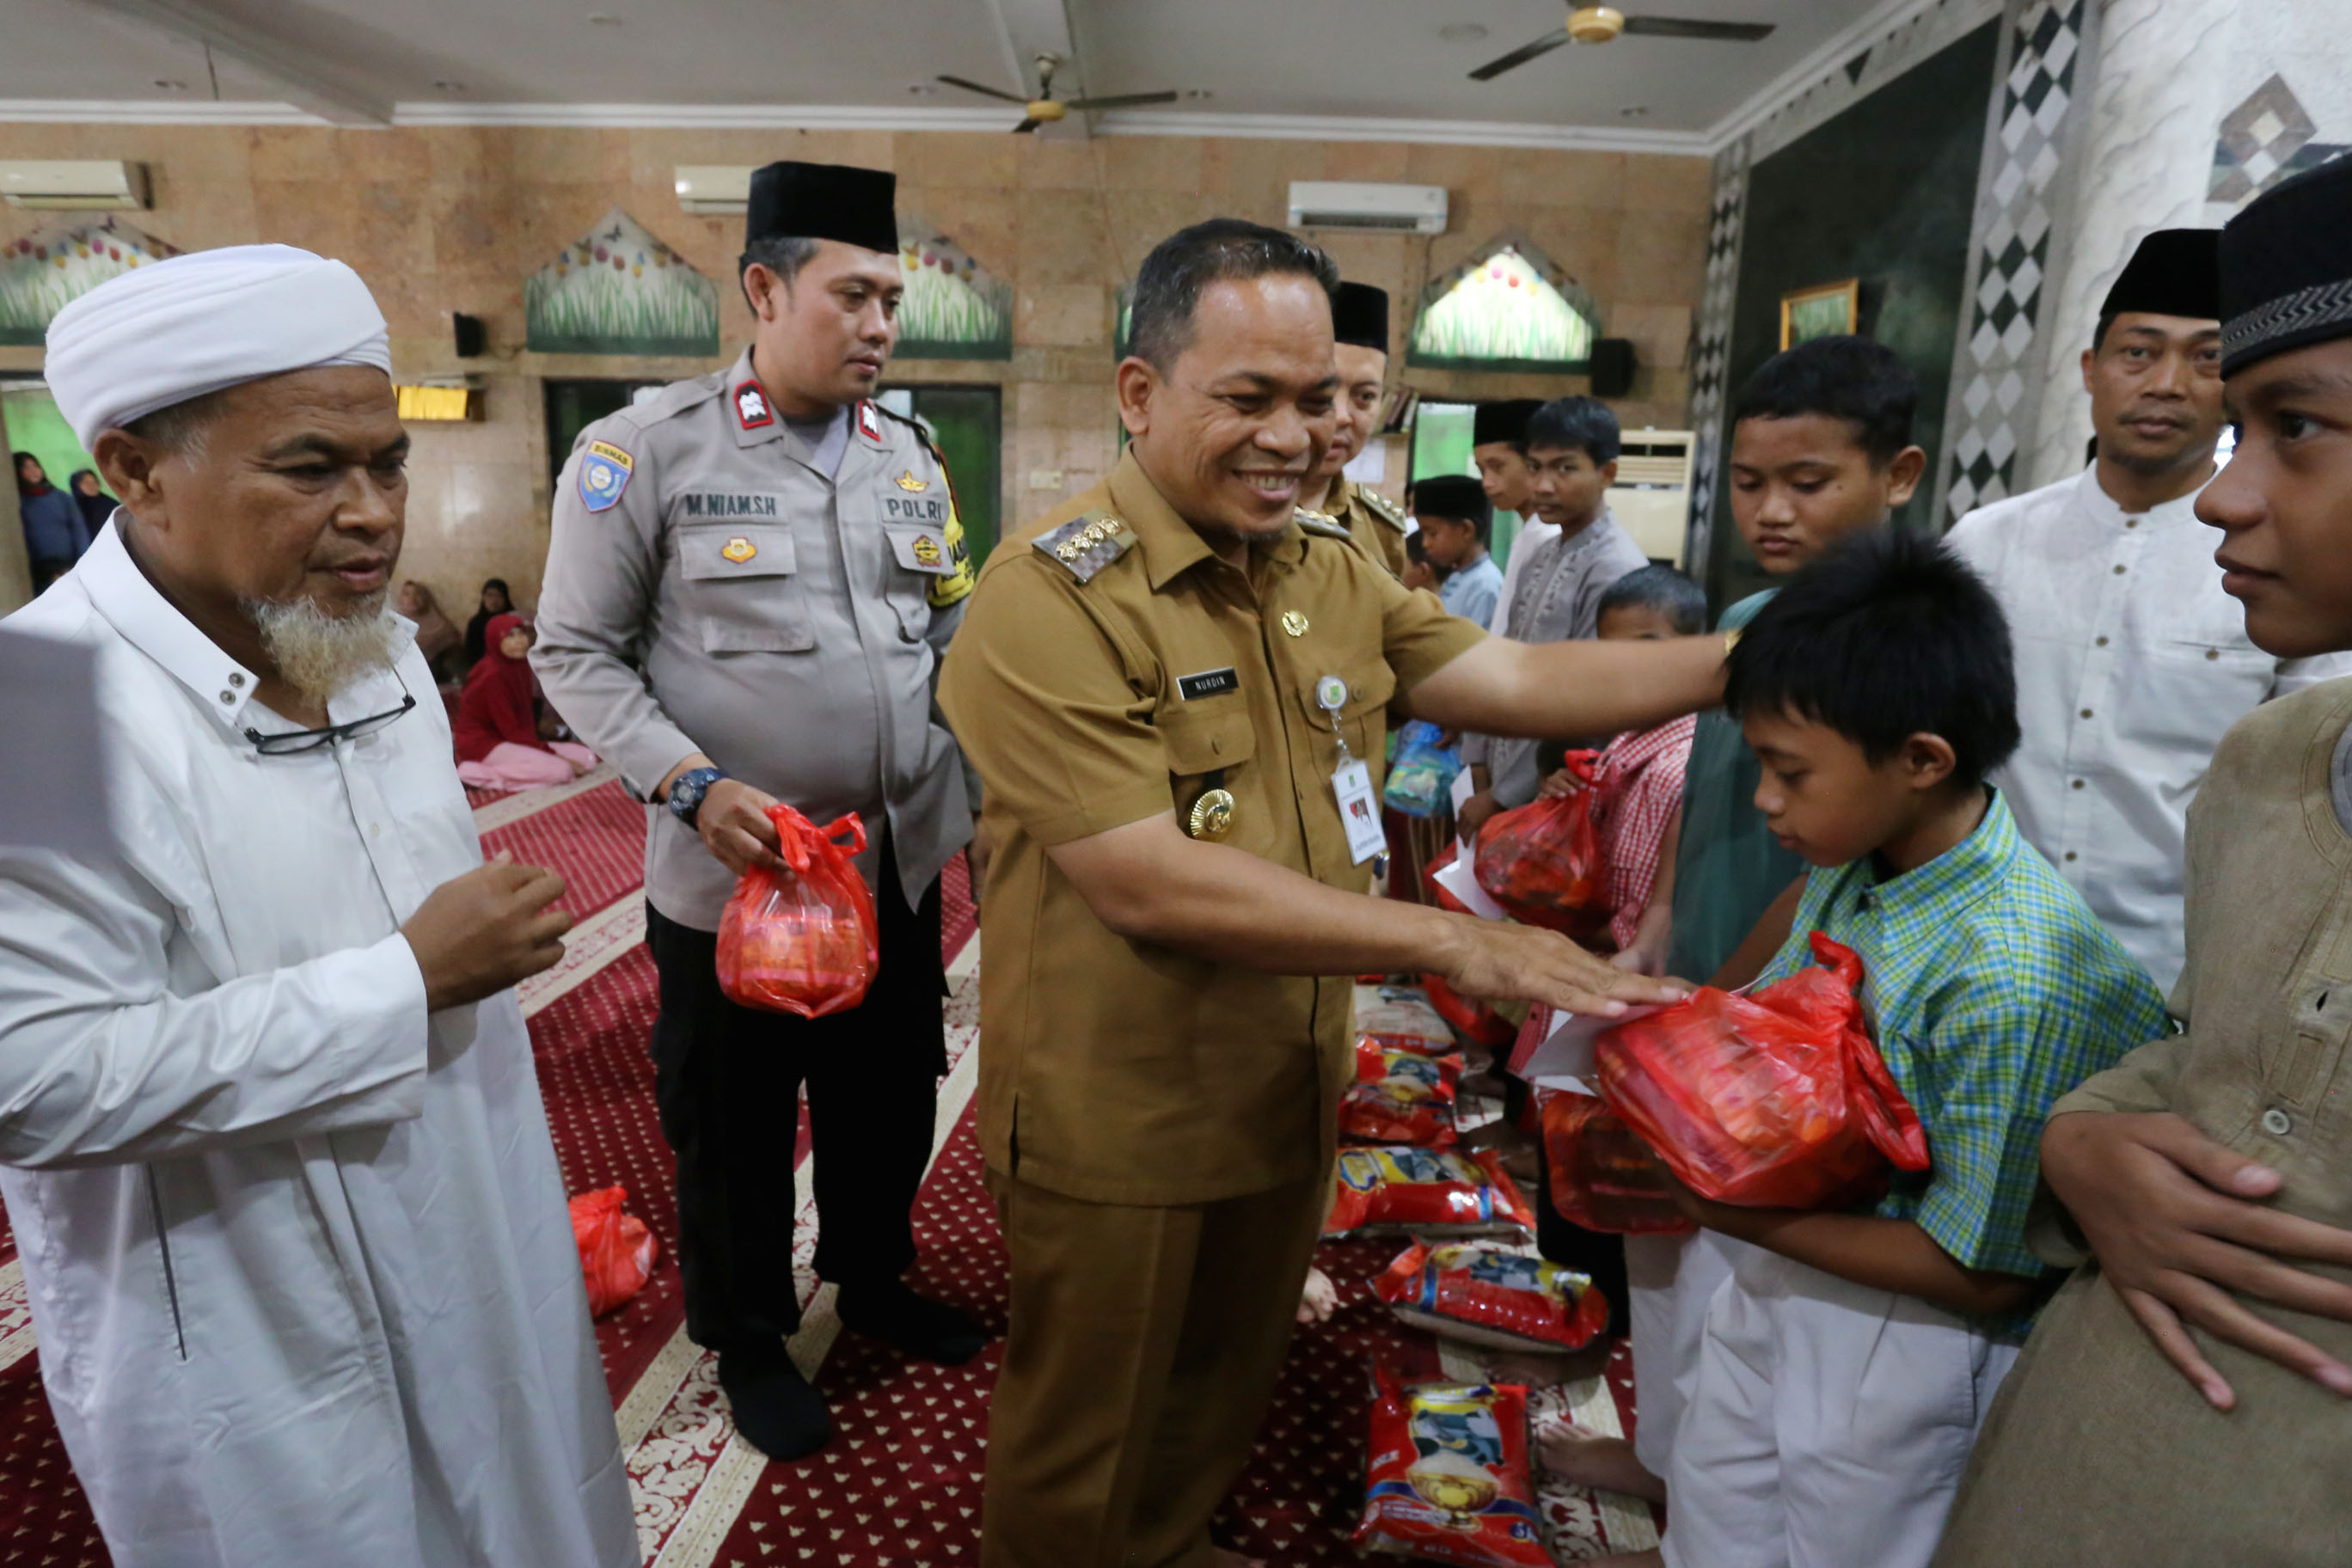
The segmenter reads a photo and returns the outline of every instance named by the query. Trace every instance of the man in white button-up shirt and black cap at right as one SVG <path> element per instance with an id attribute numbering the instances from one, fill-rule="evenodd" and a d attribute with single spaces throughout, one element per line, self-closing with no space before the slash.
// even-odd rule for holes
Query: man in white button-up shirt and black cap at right
<path id="1" fill-rule="evenodd" d="M 2227 414 L 2211 228 L 2147 235 L 2082 357 L 2098 456 L 2082 475 L 1978 508 L 1952 548 L 2009 614 L 2025 743 L 1994 773 L 2018 830 L 2171 987 L 2180 976 L 2190 799 L 2237 719 L 2352 675 L 2272 658 L 2220 588 L 2197 520 Z"/>

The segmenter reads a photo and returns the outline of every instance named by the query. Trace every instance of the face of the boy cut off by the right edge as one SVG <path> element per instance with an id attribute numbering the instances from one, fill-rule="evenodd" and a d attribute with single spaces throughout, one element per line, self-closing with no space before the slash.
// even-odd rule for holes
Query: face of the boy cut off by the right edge
<path id="1" fill-rule="evenodd" d="M 2352 649 L 2352 339 L 2258 360 L 2227 397 L 2237 449 L 2197 496 L 2223 588 L 2265 654 Z"/>

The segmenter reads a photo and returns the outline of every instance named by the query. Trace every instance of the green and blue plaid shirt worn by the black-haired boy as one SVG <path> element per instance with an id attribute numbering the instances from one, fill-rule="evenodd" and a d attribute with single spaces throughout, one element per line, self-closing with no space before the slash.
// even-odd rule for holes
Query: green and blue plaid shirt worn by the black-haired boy
<path id="1" fill-rule="evenodd" d="M 1863 959 L 1872 1039 L 1926 1126 L 1933 1164 L 1898 1171 L 1877 1213 L 1966 1267 L 2042 1274 L 2025 1246 L 2042 1124 L 2058 1095 L 2169 1032 L 2157 983 L 1997 792 L 1976 832 L 1900 877 L 1879 882 L 1870 858 L 1816 867 L 1764 980 L 1813 961 L 1809 931 Z"/>

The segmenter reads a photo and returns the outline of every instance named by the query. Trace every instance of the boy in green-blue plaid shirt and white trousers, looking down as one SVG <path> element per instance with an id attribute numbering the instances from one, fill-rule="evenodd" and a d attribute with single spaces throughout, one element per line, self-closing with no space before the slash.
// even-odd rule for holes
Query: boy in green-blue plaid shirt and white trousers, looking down
<path id="1" fill-rule="evenodd" d="M 1856 536 L 1731 654 L 1757 809 L 1813 867 L 1788 945 L 1863 959 L 1872 1037 L 1931 1168 L 1867 1211 L 1736 1208 L 1668 1479 L 1670 1568 L 1926 1568 L 2044 1300 L 2025 1246 L 2042 1121 L 2164 1034 L 2164 1001 L 2020 837 L 1985 773 L 2018 743 L 2009 630 L 1938 543 Z"/>

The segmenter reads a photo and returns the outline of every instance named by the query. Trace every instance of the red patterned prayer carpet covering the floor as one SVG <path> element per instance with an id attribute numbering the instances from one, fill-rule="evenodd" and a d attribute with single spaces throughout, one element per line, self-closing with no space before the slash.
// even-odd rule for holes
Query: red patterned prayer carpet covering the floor
<path id="1" fill-rule="evenodd" d="M 936 1368 L 842 1335 L 830 1288 L 809 1274 L 816 1213 L 807 1182 L 795 1260 L 807 1319 L 793 1340 L 826 1389 L 840 1436 L 800 1465 L 771 1465 L 741 1443 L 717 1392 L 715 1363 L 684 1338 L 677 1293 L 677 1213 L 668 1145 L 654 1117 L 644 1041 L 654 1023 L 654 964 L 644 950 L 640 856 L 644 806 L 607 769 L 553 790 L 475 795 L 487 851 L 553 865 L 579 922 L 564 961 L 520 987 L 564 1187 L 628 1187 L 628 1211 L 661 1244 L 647 1288 L 597 1324 L 621 1448 L 635 1493 L 644 1563 L 659 1568 L 946 1568 L 978 1559 L 981 1465 L 988 1389 L 1002 1345 L 971 1366 Z M 917 1199 L 922 1260 L 915 1284 L 1002 1333 L 1004 1251 L 981 1190 L 971 1086 L 978 1039 L 978 943 L 957 858 L 943 889 L 950 957 L 948 1058 L 934 1166 Z M 1383 1359 L 1409 1378 L 1475 1375 L 1454 1352 L 1402 1328 L 1371 1298 L 1371 1276 L 1395 1248 L 1322 1248 L 1341 1286 L 1341 1312 L 1301 1331 L 1249 1472 L 1218 1537 L 1277 1568 L 1359 1561 L 1348 1530 L 1362 1495 L 1367 1366 Z M 1599 1429 L 1630 1420 L 1623 1356 L 1609 1378 L 1541 1396 Z M 1562 1561 L 1653 1542 L 1646 1509 L 1552 1488 L 1545 1516 Z M 0 1215 L 0 1568 L 103 1568 L 108 1554 L 66 1465 L 40 1392 L 31 1314 L 14 1244 Z"/>

